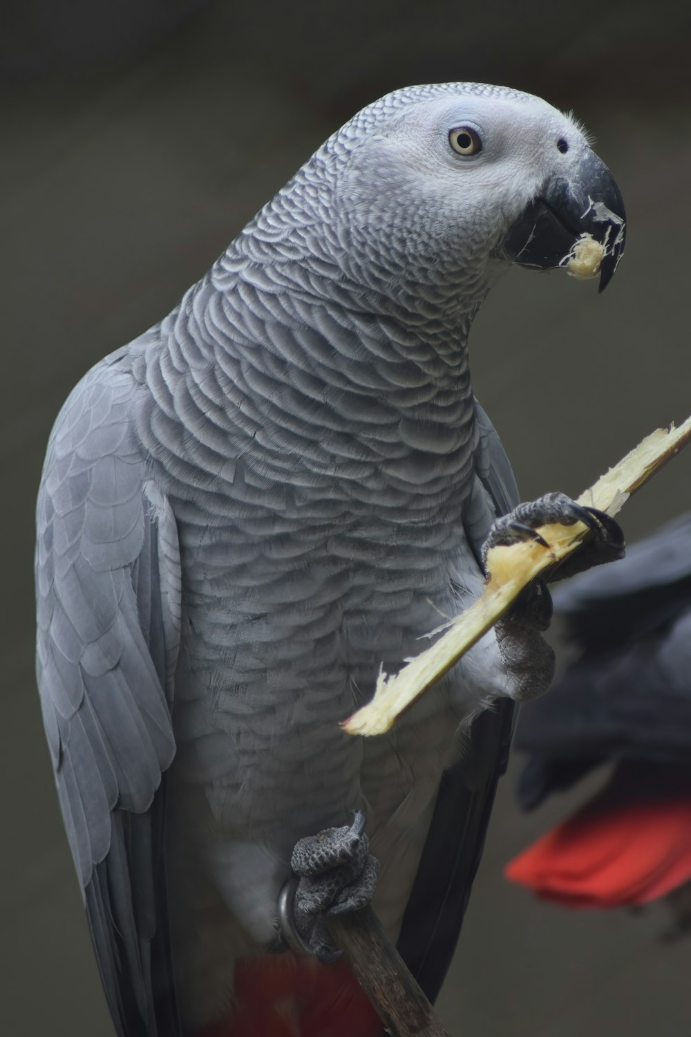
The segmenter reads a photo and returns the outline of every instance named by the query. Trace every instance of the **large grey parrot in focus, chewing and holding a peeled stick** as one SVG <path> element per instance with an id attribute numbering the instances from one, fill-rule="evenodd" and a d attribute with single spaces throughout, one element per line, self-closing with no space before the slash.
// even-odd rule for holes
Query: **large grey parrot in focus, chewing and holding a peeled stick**
<path id="1" fill-rule="evenodd" d="M 487 543 L 584 517 L 579 564 L 621 556 L 618 527 L 565 495 L 514 510 L 468 369 L 497 278 L 587 234 L 602 289 L 624 205 L 573 118 L 505 87 L 400 89 L 65 402 L 37 505 L 38 683 L 121 1037 L 380 1034 L 326 963 L 325 913 L 372 897 L 438 992 L 513 704 L 552 678 L 548 591 L 387 735 L 339 722 L 481 593 Z"/>

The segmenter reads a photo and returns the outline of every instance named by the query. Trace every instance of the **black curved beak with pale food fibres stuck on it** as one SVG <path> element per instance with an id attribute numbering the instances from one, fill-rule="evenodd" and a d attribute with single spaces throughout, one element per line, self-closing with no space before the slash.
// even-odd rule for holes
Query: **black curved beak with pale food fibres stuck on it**
<path id="1" fill-rule="evenodd" d="M 605 250 L 600 264 L 604 291 L 624 254 L 626 213 L 614 177 L 589 149 L 573 178 L 554 176 L 545 184 L 508 231 L 503 251 L 521 267 L 552 270 L 566 265 L 584 233 Z"/>

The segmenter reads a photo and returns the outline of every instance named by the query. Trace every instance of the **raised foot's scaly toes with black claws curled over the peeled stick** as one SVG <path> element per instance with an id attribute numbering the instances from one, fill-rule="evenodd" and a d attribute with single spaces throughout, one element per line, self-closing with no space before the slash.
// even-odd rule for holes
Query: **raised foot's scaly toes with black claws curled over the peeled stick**
<path id="1" fill-rule="evenodd" d="M 536 527 L 552 523 L 573 526 L 576 522 L 582 522 L 587 526 L 589 533 L 577 551 L 545 570 L 542 577 L 544 582 L 564 580 L 595 565 L 603 565 L 605 562 L 613 562 L 624 557 L 624 533 L 617 522 L 604 511 L 583 507 L 566 494 L 556 493 L 545 494 L 537 501 L 519 504 L 508 515 L 497 518 L 483 545 L 483 565 L 485 566 L 487 552 L 491 548 L 526 539 L 539 540 L 544 546 L 548 546 Z"/>

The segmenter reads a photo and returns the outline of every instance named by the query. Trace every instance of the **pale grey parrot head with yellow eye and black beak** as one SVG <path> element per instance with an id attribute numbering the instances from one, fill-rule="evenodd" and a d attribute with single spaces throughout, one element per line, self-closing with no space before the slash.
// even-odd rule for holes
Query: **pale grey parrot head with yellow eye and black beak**
<path id="1" fill-rule="evenodd" d="M 587 239 L 602 291 L 624 251 L 609 170 L 571 116 L 531 94 L 476 83 L 397 90 L 313 162 L 330 167 L 329 220 L 349 262 L 379 281 L 450 287 L 462 277 L 465 297 L 479 298 L 509 263 L 568 265 Z"/>

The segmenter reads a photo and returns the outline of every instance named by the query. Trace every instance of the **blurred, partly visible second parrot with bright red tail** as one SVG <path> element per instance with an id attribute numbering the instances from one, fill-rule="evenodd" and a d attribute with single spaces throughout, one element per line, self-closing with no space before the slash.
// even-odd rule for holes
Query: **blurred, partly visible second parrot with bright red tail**
<path id="1" fill-rule="evenodd" d="M 554 595 L 578 657 L 522 711 L 517 793 L 531 810 L 609 764 L 595 796 L 507 867 L 568 907 L 665 898 L 691 930 L 691 514 Z"/>

